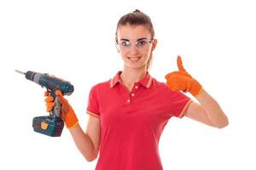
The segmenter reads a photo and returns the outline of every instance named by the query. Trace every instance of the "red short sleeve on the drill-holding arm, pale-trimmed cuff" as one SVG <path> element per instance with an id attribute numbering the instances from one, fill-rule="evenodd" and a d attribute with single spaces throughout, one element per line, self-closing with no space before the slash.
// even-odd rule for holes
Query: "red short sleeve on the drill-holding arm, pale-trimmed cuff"
<path id="1" fill-rule="evenodd" d="M 100 116 L 99 111 L 99 102 L 98 102 L 97 94 L 96 94 L 96 87 L 90 89 L 90 94 L 88 98 L 88 106 L 87 106 L 87 113 L 92 116 Z"/>

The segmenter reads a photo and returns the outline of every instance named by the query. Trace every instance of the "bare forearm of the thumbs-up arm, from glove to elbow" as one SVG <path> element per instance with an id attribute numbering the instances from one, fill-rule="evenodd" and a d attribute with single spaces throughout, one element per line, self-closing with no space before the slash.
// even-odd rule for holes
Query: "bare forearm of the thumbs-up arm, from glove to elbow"
<path id="1" fill-rule="evenodd" d="M 196 99 L 205 110 L 206 116 L 214 127 L 225 127 L 229 124 L 227 116 L 218 105 L 218 102 L 203 89 Z"/>

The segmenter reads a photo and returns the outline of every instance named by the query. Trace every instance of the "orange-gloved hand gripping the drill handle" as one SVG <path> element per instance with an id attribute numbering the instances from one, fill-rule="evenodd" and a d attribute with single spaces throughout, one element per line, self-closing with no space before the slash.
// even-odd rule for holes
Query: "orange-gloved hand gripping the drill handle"
<path id="1" fill-rule="evenodd" d="M 61 103 L 61 120 L 65 122 L 68 129 L 76 127 L 79 124 L 79 120 L 73 111 L 72 106 L 68 104 L 67 99 L 63 98 L 63 94 L 60 90 L 56 90 L 55 94 Z M 47 107 L 46 111 L 52 111 L 55 106 L 54 98 L 50 96 L 48 92 L 45 92 L 44 96 L 46 96 L 44 99 Z"/>

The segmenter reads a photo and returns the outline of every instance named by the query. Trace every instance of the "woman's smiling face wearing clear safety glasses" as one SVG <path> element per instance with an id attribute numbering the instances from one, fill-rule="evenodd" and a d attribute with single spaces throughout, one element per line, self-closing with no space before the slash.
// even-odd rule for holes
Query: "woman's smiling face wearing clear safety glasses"
<path id="1" fill-rule="evenodd" d="M 155 45 L 156 40 L 152 41 L 146 26 L 127 24 L 119 26 L 117 30 L 117 47 L 124 61 L 124 69 L 147 70 L 148 59 Z"/>

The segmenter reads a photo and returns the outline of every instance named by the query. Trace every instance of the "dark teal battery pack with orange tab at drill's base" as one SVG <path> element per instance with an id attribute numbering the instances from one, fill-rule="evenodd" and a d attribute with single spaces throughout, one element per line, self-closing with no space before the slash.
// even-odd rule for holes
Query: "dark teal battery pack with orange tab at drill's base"
<path id="1" fill-rule="evenodd" d="M 32 127 L 37 133 L 59 137 L 61 136 L 64 122 L 56 116 L 37 116 L 33 118 Z"/>

